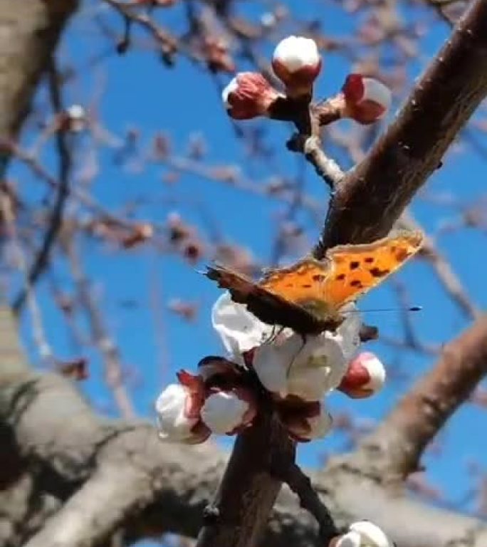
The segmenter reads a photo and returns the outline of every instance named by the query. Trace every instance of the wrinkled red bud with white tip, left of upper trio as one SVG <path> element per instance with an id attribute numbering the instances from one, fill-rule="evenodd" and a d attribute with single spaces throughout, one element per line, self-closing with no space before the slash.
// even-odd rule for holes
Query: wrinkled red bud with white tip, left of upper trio
<path id="1" fill-rule="evenodd" d="M 240 72 L 221 93 L 225 108 L 235 120 L 265 116 L 279 93 L 257 72 Z"/>

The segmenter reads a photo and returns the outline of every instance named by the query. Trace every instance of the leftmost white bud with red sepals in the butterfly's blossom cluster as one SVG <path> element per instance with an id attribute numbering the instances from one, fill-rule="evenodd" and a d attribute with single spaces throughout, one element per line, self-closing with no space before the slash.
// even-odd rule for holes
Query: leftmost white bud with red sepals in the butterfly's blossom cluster
<path id="1" fill-rule="evenodd" d="M 211 431 L 200 417 L 203 383 L 198 376 L 184 370 L 178 373 L 178 379 L 181 383 L 168 385 L 157 397 L 159 439 L 187 444 L 204 442 Z"/>

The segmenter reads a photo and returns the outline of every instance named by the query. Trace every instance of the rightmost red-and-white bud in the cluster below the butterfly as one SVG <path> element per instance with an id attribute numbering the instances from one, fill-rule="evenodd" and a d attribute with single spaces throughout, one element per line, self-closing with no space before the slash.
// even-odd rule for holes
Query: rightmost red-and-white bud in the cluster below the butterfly
<path id="1" fill-rule="evenodd" d="M 384 365 L 373 353 L 363 352 L 348 365 L 338 390 L 353 399 L 363 399 L 382 389 L 386 377 Z"/>

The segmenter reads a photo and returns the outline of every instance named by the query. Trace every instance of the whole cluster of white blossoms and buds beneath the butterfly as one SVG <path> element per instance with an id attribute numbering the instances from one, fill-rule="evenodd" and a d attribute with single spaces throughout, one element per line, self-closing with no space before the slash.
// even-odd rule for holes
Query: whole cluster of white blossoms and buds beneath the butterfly
<path id="1" fill-rule="evenodd" d="M 347 313 L 353 308 L 342 309 L 346 318 L 334 333 L 303 339 L 290 329 L 262 323 L 224 293 L 214 304 L 211 322 L 226 358 L 202 359 L 197 375 L 180 371 L 179 383 L 159 395 L 159 437 L 197 444 L 211 433 L 236 434 L 251 426 L 264 399 L 293 439 L 324 437 L 332 425 L 323 402 L 328 393 L 369 397 L 385 379 L 375 355 L 355 356 L 360 316 Z"/>

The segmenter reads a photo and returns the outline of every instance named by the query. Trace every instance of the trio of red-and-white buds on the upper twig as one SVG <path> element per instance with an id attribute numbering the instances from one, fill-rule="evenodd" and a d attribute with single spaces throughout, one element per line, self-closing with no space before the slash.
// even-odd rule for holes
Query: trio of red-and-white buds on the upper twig
<path id="1" fill-rule="evenodd" d="M 313 97 L 315 79 L 322 68 L 318 46 L 310 38 L 288 36 L 276 46 L 272 68 L 283 83 L 284 92 L 280 93 L 273 88 L 260 73 L 238 73 L 222 92 L 224 105 L 231 118 L 250 120 L 268 116 L 285 119 L 283 112 L 295 110 L 293 101 L 309 103 Z M 387 113 L 391 100 L 389 88 L 379 80 L 362 74 L 349 74 L 342 90 L 329 102 L 335 109 L 335 119 L 351 118 L 367 125 Z"/>

